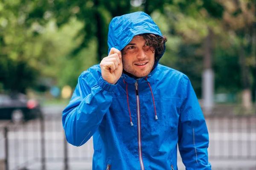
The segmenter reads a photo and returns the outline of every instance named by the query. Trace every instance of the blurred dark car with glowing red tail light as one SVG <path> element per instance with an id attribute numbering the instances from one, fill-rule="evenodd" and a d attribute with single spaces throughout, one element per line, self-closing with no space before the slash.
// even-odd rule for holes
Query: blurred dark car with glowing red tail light
<path id="1" fill-rule="evenodd" d="M 38 117 L 42 117 L 42 112 L 37 100 L 27 99 L 24 94 L 0 94 L 0 119 L 9 119 L 17 123 Z"/>

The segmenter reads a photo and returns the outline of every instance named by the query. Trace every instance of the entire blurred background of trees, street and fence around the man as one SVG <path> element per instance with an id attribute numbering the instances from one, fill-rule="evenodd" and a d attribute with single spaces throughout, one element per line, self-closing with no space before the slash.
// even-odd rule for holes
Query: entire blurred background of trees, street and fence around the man
<path id="1" fill-rule="evenodd" d="M 91 169 L 92 139 L 67 144 L 61 112 L 108 55 L 111 19 L 134 11 L 192 82 L 212 169 L 256 170 L 256 0 L 0 0 L 0 170 Z"/>

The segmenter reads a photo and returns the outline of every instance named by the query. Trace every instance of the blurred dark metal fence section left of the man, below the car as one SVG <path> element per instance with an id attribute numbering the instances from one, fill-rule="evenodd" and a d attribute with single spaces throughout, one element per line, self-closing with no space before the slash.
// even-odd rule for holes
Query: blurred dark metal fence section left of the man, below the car
<path id="1" fill-rule="evenodd" d="M 68 144 L 60 117 L 22 125 L 8 123 L 0 131 L 3 170 L 69 170 L 72 163 L 85 164 L 92 160 L 92 139 L 81 147 Z"/>

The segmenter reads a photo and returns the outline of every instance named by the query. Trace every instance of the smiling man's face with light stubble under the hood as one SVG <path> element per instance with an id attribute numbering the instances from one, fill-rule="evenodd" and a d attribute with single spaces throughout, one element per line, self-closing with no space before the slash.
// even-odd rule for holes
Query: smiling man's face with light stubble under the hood
<path id="1" fill-rule="evenodd" d="M 153 68 L 154 60 L 154 51 L 150 49 L 142 36 L 134 36 L 131 42 L 123 48 L 123 68 L 135 77 L 147 76 Z"/>

